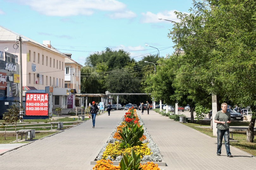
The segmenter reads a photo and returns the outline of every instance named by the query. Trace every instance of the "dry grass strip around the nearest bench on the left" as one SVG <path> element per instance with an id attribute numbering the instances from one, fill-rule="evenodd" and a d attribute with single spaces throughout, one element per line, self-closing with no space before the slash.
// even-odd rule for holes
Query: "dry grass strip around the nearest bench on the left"
<path id="1" fill-rule="evenodd" d="M 56 132 L 35 132 L 35 138 L 33 139 L 41 139 L 43 137 L 49 136 L 54 133 Z M 6 133 L 6 140 L 4 140 L 3 134 L 4 133 L 0 133 L 0 144 L 9 144 L 10 142 L 13 142 L 16 140 L 15 133 Z M 20 138 L 21 137 L 18 136 L 18 139 Z M 18 142 L 18 143 L 28 143 L 28 142 Z"/>

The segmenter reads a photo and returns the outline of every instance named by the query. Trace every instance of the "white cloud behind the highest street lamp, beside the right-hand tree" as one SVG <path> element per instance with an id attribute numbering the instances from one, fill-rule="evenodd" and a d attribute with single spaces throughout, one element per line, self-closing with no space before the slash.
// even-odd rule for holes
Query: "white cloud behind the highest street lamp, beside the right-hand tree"
<path id="1" fill-rule="evenodd" d="M 157 14 L 154 14 L 152 12 L 146 12 L 146 13 L 141 13 L 142 18 L 140 19 L 141 23 L 159 23 L 159 22 L 163 22 L 161 20 L 159 20 L 158 18 L 162 18 L 165 20 L 170 20 L 170 21 L 175 21 L 175 22 L 179 22 L 179 20 L 177 19 L 177 16 L 174 14 L 174 12 L 177 10 L 171 10 L 171 11 L 164 11 L 164 12 L 159 12 Z M 183 12 L 186 13 L 186 12 Z M 188 14 L 188 13 L 186 13 Z M 169 21 L 166 21 L 167 23 Z"/>

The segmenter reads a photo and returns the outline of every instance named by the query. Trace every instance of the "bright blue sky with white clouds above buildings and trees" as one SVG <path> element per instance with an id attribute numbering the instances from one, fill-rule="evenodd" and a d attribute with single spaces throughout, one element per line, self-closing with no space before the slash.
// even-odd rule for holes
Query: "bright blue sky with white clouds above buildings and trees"
<path id="1" fill-rule="evenodd" d="M 167 37 L 174 11 L 189 13 L 192 0 L 0 0 L 0 25 L 51 45 L 84 65 L 106 47 L 123 49 L 136 61 L 174 52 Z M 165 20 L 159 20 L 162 18 Z M 148 44 L 152 47 L 145 46 Z M 158 50 L 157 50 L 157 49 Z"/>

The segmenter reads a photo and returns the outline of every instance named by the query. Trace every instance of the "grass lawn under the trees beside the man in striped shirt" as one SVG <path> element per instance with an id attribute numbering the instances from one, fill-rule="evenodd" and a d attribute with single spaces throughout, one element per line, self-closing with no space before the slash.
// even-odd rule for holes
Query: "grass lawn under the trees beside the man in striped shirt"
<path id="1" fill-rule="evenodd" d="M 210 128 L 201 128 L 201 127 L 196 127 L 200 126 L 200 123 L 184 123 L 184 125 L 189 126 L 193 129 L 196 129 L 199 132 L 202 132 L 210 137 L 213 136 L 212 129 Z M 247 126 L 249 125 L 249 122 L 243 122 L 243 121 L 236 121 L 236 122 L 231 122 L 230 126 Z M 202 126 L 210 126 L 209 122 L 202 122 Z M 231 146 L 234 146 L 238 149 L 241 149 L 249 154 L 252 154 L 256 156 L 256 140 L 255 140 L 255 134 L 254 134 L 254 142 L 250 143 L 246 141 L 247 135 L 246 132 L 233 132 L 233 139 L 237 140 L 238 142 L 230 142 Z"/>

